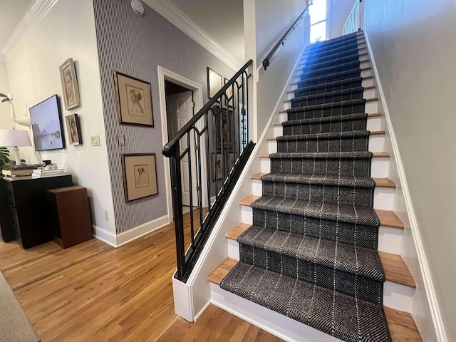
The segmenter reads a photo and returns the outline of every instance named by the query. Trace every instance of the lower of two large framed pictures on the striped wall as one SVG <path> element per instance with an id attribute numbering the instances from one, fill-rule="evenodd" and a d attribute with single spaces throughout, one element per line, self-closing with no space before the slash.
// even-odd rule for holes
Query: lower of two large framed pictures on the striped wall
<path id="1" fill-rule="evenodd" d="M 121 157 L 125 202 L 157 195 L 155 153 L 123 154 Z"/>

